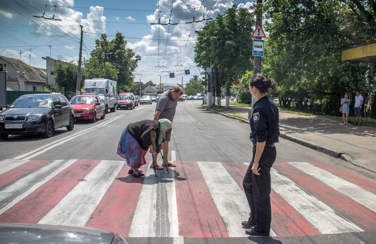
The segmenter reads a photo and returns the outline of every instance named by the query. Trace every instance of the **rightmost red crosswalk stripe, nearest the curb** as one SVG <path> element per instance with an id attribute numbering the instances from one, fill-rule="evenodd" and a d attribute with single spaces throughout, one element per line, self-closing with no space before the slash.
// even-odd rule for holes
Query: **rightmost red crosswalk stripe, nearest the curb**
<path id="1" fill-rule="evenodd" d="M 353 172 L 350 172 L 348 170 L 345 170 L 345 169 L 342 169 L 342 168 L 339 168 L 338 166 L 334 166 L 332 164 L 329 164 L 329 163 L 318 163 L 318 162 L 315 162 L 315 163 L 311 163 L 317 167 L 320 167 L 348 182 L 351 182 L 351 183 L 354 183 L 360 187 L 362 187 L 363 189 L 366 189 L 367 191 L 370 191 L 374 194 L 376 194 L 376 184 L 375 184 L 375 181 L 372 181 L 370 180 L 369 178 L 363 176 L 363 175 L 360 175 L 360 174 L 356 174 L 356 173 L 353 173 Z"/>

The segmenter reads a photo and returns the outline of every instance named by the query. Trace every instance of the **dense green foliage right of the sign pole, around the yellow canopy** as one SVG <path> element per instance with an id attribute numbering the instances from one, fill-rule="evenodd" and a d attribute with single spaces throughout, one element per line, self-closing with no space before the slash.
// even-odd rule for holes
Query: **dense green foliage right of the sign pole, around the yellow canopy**
<path id="1" fill-rule="evenodd" d="M 360 5 L 355 5 L 357 2 Z M 341 50 L 376 41 L 375 9 L 370 1 L 267 0 L 263 74 L 278 83 L 278 97 L 296 99 L 299 109 L 321 101 L 335 114 L 344 93 L 365 98 L 375 92 L 375 65 L 341 62 Z M 359 6 L 363 6 L 360 8 Z M 290 106 L 290 102 L 283 105 Z"/>

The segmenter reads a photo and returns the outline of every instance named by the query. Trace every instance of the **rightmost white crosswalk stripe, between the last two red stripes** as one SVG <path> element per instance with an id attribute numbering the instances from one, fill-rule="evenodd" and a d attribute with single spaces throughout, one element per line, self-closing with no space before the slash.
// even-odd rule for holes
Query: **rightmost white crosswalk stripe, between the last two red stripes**
<path id="1" fill-rule="evenodd" d="M 343 195 L 348 196 L 354 201 L 376 212 L 376 195 L 374 193 L 367 191 L 356 184 L 343 180 L 342 178 L 314 166 L 311 163 L 294 162 L 290 164 L 300 169 L 304 173 L 313 176 L 313 178 L 319 180 L 320 182 L 329 185 Z"/>

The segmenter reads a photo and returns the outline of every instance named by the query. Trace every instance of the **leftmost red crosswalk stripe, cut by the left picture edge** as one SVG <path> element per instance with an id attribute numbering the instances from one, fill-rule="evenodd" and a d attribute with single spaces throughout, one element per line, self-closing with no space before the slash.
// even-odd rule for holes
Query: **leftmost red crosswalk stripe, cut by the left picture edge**
<path id="1" fill-rule="evenodd" d="M 22 179 L 49 162 L 47 160 L 32 160 L 1 174 L 0 188 Z"/>

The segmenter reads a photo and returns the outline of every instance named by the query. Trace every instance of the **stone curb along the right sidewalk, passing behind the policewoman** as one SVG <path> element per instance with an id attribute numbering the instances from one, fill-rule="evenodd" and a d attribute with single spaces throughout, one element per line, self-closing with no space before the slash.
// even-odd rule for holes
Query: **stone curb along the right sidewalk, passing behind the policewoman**
<path id="1" fill-rule="evenodd" d="M 240 119 L 240 118 L 237 118 L 237 117 L 234 117 L 234 116 L 231 116 L 231 115 L 228 115 L 226 113 L 221 113 L 221 112 L 218 112 L 218 111 L 215 111 L 213 109 L 210 109 L 210 108 L 207 108 L 203 105 L 201 105 L 202 108 L 206 109 L 206 110 L 209 110 L 213 113 L 216 113 L 216 114 L 220 114 L 222 116 L 225 116 L 225 117 L 228 117 L 230 119 L 234 119 L 234 120 L 238 120 L 238 121 L 241 121 L 243 123 L 250 123 L 248 120 L 246 119 Z M 295 143 L 298 143 L 299 145 L 303 145 L 303 146 L 306 146 L 306 147 L 309 147 L 313 150 L 316 150 L 316 151 L 319 151 L 319 152 L 322 152 L 322 153 L 325 153 L 329 156 L 332 156 L 334 158 L 339 158 L 339 159 L 342 159 L 343 161 L 346 161 L 346 162 L 349 162 L 355 166 L 358 166 L 358 167 L 361 167 L 361 168 L 364 168 L 364 169 L 367 169 L 371 172 L 374 172 L 376 173 L 376 170 L 362 164 L 362 163 L 359 163 L 357 161 L 355 161 L 352 157 L 350 157 L 349 155 L 347 155 L 346 153 L 344 152 L 338 152 L 332 148 L 328 148 L 328 147 L 322 147 L 320 145 L 317 145 L 317 144 L 314 144 L 312 142 L 307 142 L 307 141 L 304 141 L 304 140 L 301 140 L 301 139 L 298 139 L 296 137 L 292 137 L 292 136 L 289 136 L 288 134 L 284 133 L 284 132 L 280 132 L 280 135 L 279 135 L 281 138 L 284 138 L 286 140 L 289 140 L 291 142 L 295 142 Z"/>

